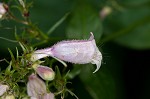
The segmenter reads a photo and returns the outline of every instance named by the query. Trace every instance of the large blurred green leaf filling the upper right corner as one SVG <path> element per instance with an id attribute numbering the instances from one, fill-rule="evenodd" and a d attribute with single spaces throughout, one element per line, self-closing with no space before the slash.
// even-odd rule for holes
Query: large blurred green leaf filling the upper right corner
<path id="1" fill-rule="evenodd" d="M 129 4 L 129 2 L 132 2 Z M 133 49 L 150 48 L 150 13 L 149 6 L 144 6 L 142 0 L 124 1 L 124 10 L 114 13 L 105 24 L 107 40 L 115 40 L 120 45 Z M 133 4 L 133 6 L 131 5 Z M 117 20 L 116 20 L 117 19 Z M 107 41 L 106 39 L 104 41 Z"/>

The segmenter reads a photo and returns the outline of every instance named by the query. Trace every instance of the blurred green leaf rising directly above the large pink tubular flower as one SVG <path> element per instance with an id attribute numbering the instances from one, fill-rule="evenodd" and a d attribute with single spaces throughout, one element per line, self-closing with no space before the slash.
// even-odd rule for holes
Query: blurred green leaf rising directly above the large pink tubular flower
<path id="1" fill-rule="evenodd" d="M 98 12 L 88 4 L 77 4 L 66 30 L 67 37 L 88 39 L 90 32 L 99 40 L 102 35 L 102 24 Z"/>

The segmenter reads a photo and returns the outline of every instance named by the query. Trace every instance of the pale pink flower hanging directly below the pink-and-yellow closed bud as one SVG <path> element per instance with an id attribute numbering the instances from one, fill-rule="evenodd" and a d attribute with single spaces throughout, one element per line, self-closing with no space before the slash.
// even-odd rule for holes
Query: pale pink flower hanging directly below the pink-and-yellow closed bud
<path id="1" fill-rule="evenodd" d="M 35 74 L 31 74 L 28 78 L 27 93 L 30 97 L 40 99 L 46 93 L 46 85 Z"/>

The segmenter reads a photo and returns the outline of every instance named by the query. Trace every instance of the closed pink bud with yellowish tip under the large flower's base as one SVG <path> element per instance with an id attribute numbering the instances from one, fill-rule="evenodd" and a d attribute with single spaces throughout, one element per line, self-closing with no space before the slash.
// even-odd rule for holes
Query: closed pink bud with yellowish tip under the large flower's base
<path id="1" fill-rule="evenodd" d="M 55 78 L 55 72 L 52 68 L 42 65 L 34 65 L 34 70 L 44 80 L 53 80 Z"/>

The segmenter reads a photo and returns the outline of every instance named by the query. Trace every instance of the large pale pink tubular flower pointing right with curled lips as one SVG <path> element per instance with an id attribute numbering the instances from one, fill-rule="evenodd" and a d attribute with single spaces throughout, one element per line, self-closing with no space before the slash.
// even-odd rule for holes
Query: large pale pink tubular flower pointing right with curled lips
<path id="1" fill-rule="evenodd" d="M 58 61 L 75 63 L 75 64 L 96 64 L 97 68 L 93 72 L 100 69 L 102 54 L 96 46 L 94 35 L 91 32 L 88 40 L 68 40 L 61 41 L 52 47 L 36 50 L 31 55 L 31 61 L 37 61 L 41 58 L 51 56 Z"/>

